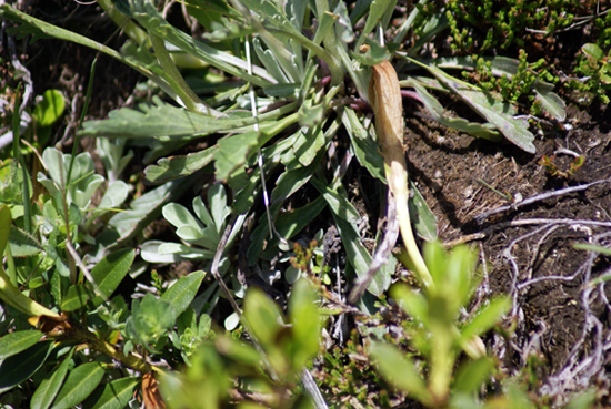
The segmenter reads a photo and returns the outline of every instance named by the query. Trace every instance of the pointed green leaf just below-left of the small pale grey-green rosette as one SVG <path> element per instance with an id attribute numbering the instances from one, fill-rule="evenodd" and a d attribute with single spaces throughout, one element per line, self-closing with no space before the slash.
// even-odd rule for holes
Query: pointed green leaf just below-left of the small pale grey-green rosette
<path id="1" fill-rule="evenodd" d="M 98 285 L 97 293 L 110 298 L 128 274 L 134 258 L 136 252 L 132 248 L 122 248 L 98 262 L 91 269 L 91 276 Z M 102 298 L 96 297 L 93 298 L 93 306 L 97 307 L 103 301 Z"/>

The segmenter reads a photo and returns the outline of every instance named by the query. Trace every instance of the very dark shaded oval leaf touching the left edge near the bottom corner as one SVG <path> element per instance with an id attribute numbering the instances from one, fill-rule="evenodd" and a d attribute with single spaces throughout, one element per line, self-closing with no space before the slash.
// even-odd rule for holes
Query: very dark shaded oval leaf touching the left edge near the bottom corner
<path id="1" fill-rule="evenodd" d="M 0 364 L 0 393 L 34 375 L 47 360 L 53 342 L 38 342 Z"/>

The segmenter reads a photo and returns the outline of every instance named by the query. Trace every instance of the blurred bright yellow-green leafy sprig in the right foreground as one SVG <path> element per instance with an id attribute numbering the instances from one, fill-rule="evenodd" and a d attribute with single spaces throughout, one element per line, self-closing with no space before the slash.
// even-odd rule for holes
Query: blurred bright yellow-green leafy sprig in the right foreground
<path id="1" fill-rule="evenodd" d="M 384 379 L 425 407 L 440 407 L 453 397 L 473 399 L 473 392 L 492 375 L 494 365 L 485 356 L 480 335 L 499 321 L 510 304 L 507 298 L 494 299 L 470 320 L 460 323 L 461 308 L 469 304 L 478 286 L 473 274 L 474 254 L 467 247 L 457 247 L 445 255 L 440 245 L 428 244 L 424 259 L 435 286 L 413 292 L 407 285 L 397 284 L 390 293 L 415 321 L 411 327 L 411 342 L 424 359 L 428 375 L 423 377 L 414 359 L 393 345 L 374 341 L 371 355 Z M 453 379 L 461 351 L 472 361 L 462 364 Z"/>

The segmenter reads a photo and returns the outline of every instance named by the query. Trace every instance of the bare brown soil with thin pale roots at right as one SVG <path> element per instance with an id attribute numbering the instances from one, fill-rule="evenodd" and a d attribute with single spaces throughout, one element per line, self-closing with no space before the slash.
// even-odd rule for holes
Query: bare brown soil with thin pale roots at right
<path id="1" fill-rule="evenodd" d="M 411 177 L 438 217 L 440 238 L 477 242 L 484 290 L 512 296 L 507 319 L 515 331 L 510 339 L 489 339 L 490 346 L 511 371 L 523 367 L 530 354 L 539 355 L 543 395 L 608 384 L 611 293 L 588 283 L 609 274 L 611 259 L 573 248 L 574 243 L 605 245 L 611 236 L 608 117 L 598 106 L 570 105 L 563 125 L 541 129 L 535 155 L 408 119 Z M 565 172 L 574 161 L 571 153 L 585 157 L 573 175 L 552 176 L 539 163 L 548 155 Z M 521 206 L 528 198 L 592 182 L 600 183 Z M 485 217 L 501 206 L 507 211 Z"/>

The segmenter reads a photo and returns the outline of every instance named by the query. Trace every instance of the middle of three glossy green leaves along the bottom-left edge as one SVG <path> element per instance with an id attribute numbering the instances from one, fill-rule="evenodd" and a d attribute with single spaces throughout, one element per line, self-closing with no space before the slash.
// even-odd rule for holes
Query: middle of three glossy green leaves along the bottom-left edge
<path id="1" fill-rule="evenodd" d="M 82 402 L 98 387 L 103 376 L 104 370 L 99 362 L 72 369 L 51 409 L 69 409 Z"/>

